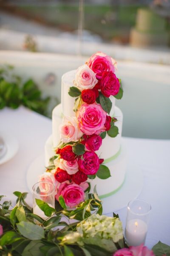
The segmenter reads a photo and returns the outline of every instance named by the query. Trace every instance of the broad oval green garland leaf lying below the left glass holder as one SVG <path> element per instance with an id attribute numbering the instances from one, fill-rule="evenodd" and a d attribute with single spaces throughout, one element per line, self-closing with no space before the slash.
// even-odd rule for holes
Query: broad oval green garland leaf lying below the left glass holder
<path id="1" fill-rule="evenodd" d="M 45 238 L 44 229 L 29 221 L 21 221 L 20 223 L 17 224 L 17 228 L 22 236 L 30 240 L 38 240 Z"/>

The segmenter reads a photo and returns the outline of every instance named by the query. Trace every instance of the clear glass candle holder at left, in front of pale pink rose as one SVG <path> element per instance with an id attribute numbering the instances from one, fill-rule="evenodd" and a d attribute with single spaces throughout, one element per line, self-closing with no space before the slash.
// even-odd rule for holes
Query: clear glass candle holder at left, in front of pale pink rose
<path id="1" fill-rule="evenodd" d="M 44 220 L 49 218 L 44 214 L 36 203 L 36 199 L 40 199 L 47 203 L 50 207 L 55 207 L 55 187 L 53 183 L 40 181 L 34 184 L 33 190 L 33 213 L 40 216 Z"/>

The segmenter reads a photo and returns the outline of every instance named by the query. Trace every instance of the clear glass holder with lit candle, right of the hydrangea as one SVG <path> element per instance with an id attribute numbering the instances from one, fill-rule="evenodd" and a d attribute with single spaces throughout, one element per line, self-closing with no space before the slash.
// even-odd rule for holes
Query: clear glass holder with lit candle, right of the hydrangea
<path id="1" fill-rule="evenodd" d="M 125 239 L 128 246 L 145 243 L 151 206 L 144 200 L 135 199 L 127 205 Z"/>

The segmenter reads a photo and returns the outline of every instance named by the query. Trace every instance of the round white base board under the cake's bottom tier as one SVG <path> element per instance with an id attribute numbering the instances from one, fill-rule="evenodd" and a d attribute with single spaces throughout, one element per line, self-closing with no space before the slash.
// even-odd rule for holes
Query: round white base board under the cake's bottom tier
<path id="1" fill-rule="evenodd" d="M 45 172 L 44 154 L 35 158 L 27 170 L 27 186 L 32 192 L 32 186 L 37 182 L 38 176 Z M 143 174 L 138 166 L 127 164 L 125 181 L 121 188 L 113 195 L 102 198 L 103 213 L 116 212 L 124 207 L 130 200 L 137 198 L 142 191 Z M 97 189 L 97 187 L 96 187 Z"/>

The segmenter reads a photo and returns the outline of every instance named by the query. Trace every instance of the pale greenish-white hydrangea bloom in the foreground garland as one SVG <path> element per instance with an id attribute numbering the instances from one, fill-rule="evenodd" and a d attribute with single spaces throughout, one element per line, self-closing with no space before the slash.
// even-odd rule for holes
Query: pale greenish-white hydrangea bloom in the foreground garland
<path id="1" fill-rule="evenodd" d="M 122 222 L 119 218 L 99 214 L 93 214 L 77 224 L 77 232 L 86 239 L 97 236 L 100 239 L 111 239 L 114 243 L 123 239 Z"/>

